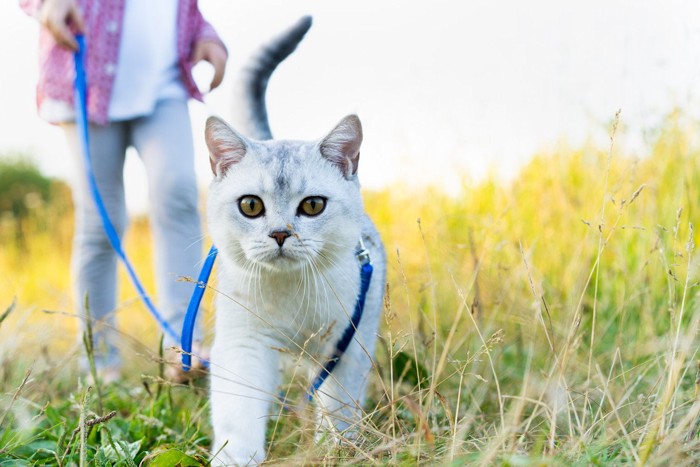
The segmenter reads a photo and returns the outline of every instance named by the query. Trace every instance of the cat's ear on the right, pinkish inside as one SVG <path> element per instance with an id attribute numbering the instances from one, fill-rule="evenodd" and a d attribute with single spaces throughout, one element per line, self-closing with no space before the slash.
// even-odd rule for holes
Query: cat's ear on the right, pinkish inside
<path id="1" fill-rule="evenodd" d="M 362 124 L 357 115 L 348 115 L 321 140 L 321 155 L 335 164 L 346 179 L 357 172 L 362 144 Z"/>

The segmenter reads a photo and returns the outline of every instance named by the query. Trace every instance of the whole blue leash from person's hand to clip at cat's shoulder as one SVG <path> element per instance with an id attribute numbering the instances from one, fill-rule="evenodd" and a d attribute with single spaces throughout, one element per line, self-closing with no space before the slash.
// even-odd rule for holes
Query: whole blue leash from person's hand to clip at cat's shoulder
<path id="1" fill-rule="evenodd" d="M 109 243 L 117 254 L 117 257 L 126 267 L 129 274 L 131 282 L 134 284 L 136 291 L 138 292 L 141 300 L 146 305 L 146 308 L 151 313 L 156 322 L 160 325 L 163 331 L 175 341 L 180 341 L 182 345 L 182 368 L 184 371 L 189 371 L 192 366 L 192 334 L 194 332 L 194 323 L 197 319 L 197 312 L 199 311 L 199 305 L 204 296 L 204 291 L 206 290 L 207 283 L 209 282 L 209 276 L 211 275 L 211 270 L 214 267 L 214 261 L 216 260 L 216 255 L 218 253 L 216 247 L 212 245 L 209 250 L 209 254 L 204 261 L 202 270 L 197 278 L 197 283 L 195 284 L 194 291 L 192 292 L 192 298 L 187 306 L 187 313 L 185 314 L 185 321 L 182 326 L 182 337 L 180 338 L 178 334 L 173 330 L 173 328 L 168 324 L 168 322 L 163 318 L 163 316 L 158 312 L 155 305 L 151 301 L 150 297 L 146 293 L 141 281 L 139 280 L 134 268 L 126 256 L 124 249 L 122 248 L 119 235 L 117 235 L 116 229 L 109 219 L 107 209 L 105 208 L 104 202 L 102 201 L 102 196 L 97 188 L 97 182 L 95 181 L 95 175 L 92 170 L 92 155 L 90 151 L 90 139 L 89 139 L 89 127 L 88 127 L 88 116 L 87 116 L 87 73 L 85 71 L 85 57 L 86 57 L 86 45 L 85 38 L 82 35 L 76 36 L 78 42 L 78 50 L 75 52 L 75 111 L 76 111 L 76 123 L 78 126 L 79 136 L 81 140 L 81 145 L 83 148 L 83 157 L 85 162 L 85 170 L 88 179 L 88 184 L 90 185 L 90 192 L 92 198 L 97 206 L 97 210 L 100 213 L 102 219 L 102 225 L 104 227 Z M 318 376 L 314 379 L 311 387 L 308 391 L 308 398 L 311 400 L 313 395 L 318 391 L 323 382 L 330 376 L 333 369 L 340 362 L 340 358 L 343 353 L 347 350 L 352 338 L 355 336 L 357 327 L 360 325 L 360 320 L 362 319 L 362 312 L 365 306 L 365 298 L 367 296 L 367 291 L 369 290 L 370 281 L 372 279 L 372 262 L 370 260 L 369 252 L 365 249 L 362 240 L 358 244 L 356 251 L 357 260 L 360 264 L 360 291 L 357 296 L 357 301 L 355 302 L 355 309 L 353 310 L 352 316 L 350 318 L 350 323 L 343 331 L 343 334 L 335 346 L 335 350 L 331 357 L 326 361 L 323 368 L 319 371 Z M 208 364 L 208 362 L 205 362 Z"/>

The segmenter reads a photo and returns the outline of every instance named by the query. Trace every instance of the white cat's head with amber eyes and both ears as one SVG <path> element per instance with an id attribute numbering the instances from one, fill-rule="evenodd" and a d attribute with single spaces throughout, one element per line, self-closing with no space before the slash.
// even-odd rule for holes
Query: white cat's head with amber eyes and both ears
<path id="1" fill-rule="evenodd" d="M 206 142 L 209 231 L 229 260 L 290 271 L 353 251 L 363 218 L 357 116 L 313 142 L 255 141 L 211 117 Z"/>

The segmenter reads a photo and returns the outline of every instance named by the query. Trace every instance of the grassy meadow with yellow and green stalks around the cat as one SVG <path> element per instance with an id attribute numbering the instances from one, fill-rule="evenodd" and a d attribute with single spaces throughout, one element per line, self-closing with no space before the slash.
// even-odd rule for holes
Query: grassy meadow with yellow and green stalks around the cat
<path id="1" fill-rule="evenodd" d="M 459 195 L 367 192 L 389 277 L 361 436 L 315 442 L 296 376 L 268 463 L 700 464 L 700 125 L 671 115 L 638 155 L 617 126 L 609 147 L 536 155 Z M 78 371 L 69 195 L 36 204 L 0 219 L 0 465 L 207 465 L 206 381 L 163 379 L 125 274 L 124 377 Z M 125 242 L 153 290 L 145 219 Z"/>

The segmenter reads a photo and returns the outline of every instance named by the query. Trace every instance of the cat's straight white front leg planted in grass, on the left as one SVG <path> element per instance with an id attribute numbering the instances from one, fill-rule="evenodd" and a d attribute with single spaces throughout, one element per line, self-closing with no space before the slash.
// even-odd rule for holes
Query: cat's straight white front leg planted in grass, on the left
<path id="1" fill-rule="evenodd" d="M 266 339 L 217 334 L 211 354 L 214 465 L 265 460 L 265 425 L 279 380 L 279 355 Z"/>

